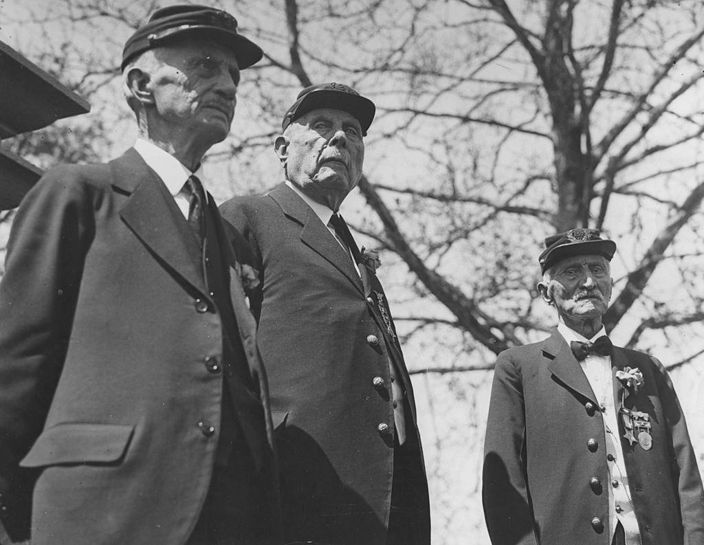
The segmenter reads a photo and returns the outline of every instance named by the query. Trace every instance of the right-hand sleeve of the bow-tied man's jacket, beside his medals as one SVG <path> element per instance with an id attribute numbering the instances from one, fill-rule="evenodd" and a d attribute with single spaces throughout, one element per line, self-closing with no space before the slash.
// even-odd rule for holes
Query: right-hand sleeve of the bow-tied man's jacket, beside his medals
<path id="1" fill-rule="evenodd" d="M 674 466 L 679 472 L 676 477 L 682 529 L 684 530 L 684 545 L 704 545 L 704 490 L 696 454 L 692 448 L 684 413 L 682 413 L 670 376 L 660 361 L 655 358 L 651 359 L 656 366 L 655 377 L 659 383 L 658 394 L 662 404 L 662 413 L 665 415 L 667 427 L 672 437 Z"/>

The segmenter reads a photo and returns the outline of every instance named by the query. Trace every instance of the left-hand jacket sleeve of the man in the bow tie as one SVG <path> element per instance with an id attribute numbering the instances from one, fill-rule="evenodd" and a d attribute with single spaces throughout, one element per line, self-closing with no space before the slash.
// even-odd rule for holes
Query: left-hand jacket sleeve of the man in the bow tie
<path id="1" fill-rule="evenodd" d="M 494 545 L 537 545 L 525 473 L 525 421 L 520 365 L 504 351 L 496 361 L 484 439 L 482 501 Z"/>

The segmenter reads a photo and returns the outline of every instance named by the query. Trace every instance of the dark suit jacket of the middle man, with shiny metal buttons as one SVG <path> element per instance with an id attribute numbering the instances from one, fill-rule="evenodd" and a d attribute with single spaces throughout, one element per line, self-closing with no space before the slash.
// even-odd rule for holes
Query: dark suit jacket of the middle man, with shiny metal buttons
<path id="1" fill-rule="evenodd" d="M 285 184 L 220 207 L 260 271 L 258 342 L 268 371 L 287 541 L 386 543 L 393 477 L 389 361 L 415 401 L 398 343 L 350 256 Z M 372 290 L 372 291 L 370 291 Z M 386 309 L 388 312 L 388 309 Z M 395 334 L 395 332 L 394 332 Z M 375 387 L 375 377 L 377 379 Z M 388 428 L 379 431 L 379 425 Z M 416 493 L 427 501 L 427 480 Z M 417 543 L 429 541 L 429 515 Z M 410 542 L 409 542 L 410 544 Z"/>

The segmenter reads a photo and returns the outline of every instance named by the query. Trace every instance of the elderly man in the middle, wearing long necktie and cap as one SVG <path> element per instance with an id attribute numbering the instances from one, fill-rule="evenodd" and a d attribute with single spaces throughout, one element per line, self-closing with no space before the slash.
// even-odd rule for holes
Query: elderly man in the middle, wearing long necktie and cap
<path id="1" fill-rule="evenodd" d="M 284 537 L 427 545 L 413 388 L 379 284 L 339 206 L 362 175 L 375 106 L 351 87 L 303 89 L 275 149 L 286 181 L 221 206 L 253 246 L 251 299 L 282 467 Z"/>

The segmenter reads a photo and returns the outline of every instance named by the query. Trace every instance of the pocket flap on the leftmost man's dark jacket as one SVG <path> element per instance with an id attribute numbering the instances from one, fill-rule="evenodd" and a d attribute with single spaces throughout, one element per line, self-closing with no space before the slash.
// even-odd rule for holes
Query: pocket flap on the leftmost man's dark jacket
<path id="1" fill-rule="evenodd" d="M 20 465 L 41 468 L 61 463 L 109 463 L 127 449 L 133 426 L 65 423 L 44 430 Z"/>

